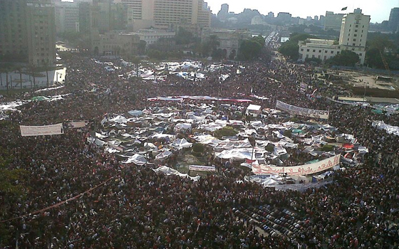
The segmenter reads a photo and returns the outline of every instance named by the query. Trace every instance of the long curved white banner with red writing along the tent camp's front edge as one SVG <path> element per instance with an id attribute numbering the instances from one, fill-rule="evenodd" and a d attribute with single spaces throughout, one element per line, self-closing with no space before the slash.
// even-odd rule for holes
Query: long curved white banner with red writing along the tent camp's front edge
<path id="1" fill-rule="evenodd" d="M 288 176 L 304 176 L 308 174 L 315 174 L 317 172 L 331 169 L 333 166 L 339 164 L 341 154 L 334 157 L 318 161 L 314 164 L 305 164 L 300 166 L 270 166 L 270 165 L 252 165 L 252 172 L 254 174 L 287 174 Z"/>

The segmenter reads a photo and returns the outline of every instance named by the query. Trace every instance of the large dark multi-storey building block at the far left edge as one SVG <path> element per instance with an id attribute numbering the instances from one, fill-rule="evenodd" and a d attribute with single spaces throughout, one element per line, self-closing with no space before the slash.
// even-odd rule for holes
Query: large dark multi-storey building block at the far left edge
<path id="1" fill-rule="evenodd" d="M 56 63 L 54 6 L 50 0 L 0 1 L 0 56 L 31 65 Z"/>

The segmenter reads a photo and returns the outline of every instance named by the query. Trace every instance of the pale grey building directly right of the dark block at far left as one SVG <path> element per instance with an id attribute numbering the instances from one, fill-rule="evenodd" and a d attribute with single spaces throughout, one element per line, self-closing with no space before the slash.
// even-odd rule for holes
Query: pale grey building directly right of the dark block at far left
<path id="1" fill-rule="evenodd" d="M 56 33 L 79 32 L 79 5 L 75 2 L 55 2 Z"/>

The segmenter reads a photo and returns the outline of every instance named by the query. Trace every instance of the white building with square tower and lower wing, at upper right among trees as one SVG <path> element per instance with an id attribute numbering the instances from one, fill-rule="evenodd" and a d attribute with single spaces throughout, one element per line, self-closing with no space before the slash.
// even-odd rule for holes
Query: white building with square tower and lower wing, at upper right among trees
<path id="1" fill-rule="evenodd" d="M 318 58 L 328 60 L 341 53 L 343 50 L 353 51 L 359 56 L 359 63 L 363 64 L 366 56 L 366 40 L 370 16 L 361 14 L 361 9 L 355 9 L 353 13 L 343 16 L 339 42 L 307 39 L 299 42 L 299 60 L 306 58 Z"/>

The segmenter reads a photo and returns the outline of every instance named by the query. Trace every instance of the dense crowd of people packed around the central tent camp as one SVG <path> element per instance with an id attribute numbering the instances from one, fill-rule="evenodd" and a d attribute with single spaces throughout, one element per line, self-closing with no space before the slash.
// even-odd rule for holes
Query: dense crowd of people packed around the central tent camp
<path id="1" fill-rule="evenodd" d="M 120 77 L 135 68 L 110 72 L 89 58 L 74 57 L 66 65 L 65 88 L 51 92 L 64 95 L 63 100 L 28 102 L 0 123 L 4 141 L 0 156 L 9 159 L 8 169 L 21 169 L 22 179 L 15 185 L 24 186 L 21 194 L 0 193 L 1 248 L 399 247 L 398 137 L 371 127 L 372 120 L 398 126 L 399 116 L 310 96 L 316 88 L 331 97 L 342 93 L 321 83 L 311 65 L 264 57 L 245 63 L 241 74 L 236 71 L 239 65 L 233 64 L 207 73 L 204 80 L 170 75 L 157 83 Z M 221 82 L 221 73 L 230 77 Z M 301 91 L 299 83 L 311 88 Z M 263 108 L 274 108 L 281 100 L 330 110 L 331 125 L 354 134 L 368 147 L 364 163 L 338 171 L 332 184 L 319 189 L 275 191 L 242 181 L 245 172 L 239 168 L 191 181 L 157 174 L 147 166 L 122 165 L 113 154 L 88 142 L 95 123 L 98 129 L 108 113 L 180 105 L 147 102 L 148 97 L 251 94 L 263 97 L 252 99 Z M 230 110 L 218 112 L 229 118 L 234 115 Z M 92 120 L 93 125 L 65 129 L 60 136 L 21 137 L 19 133 L 19 124 L 67 120 Z M 273 117 L 265 120 L 274 121 Z M 265 205 L 296 213 L 302 221 L 298 231 L 271 235 L 237 213 Z"/>

